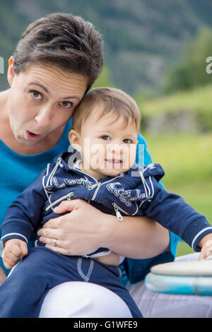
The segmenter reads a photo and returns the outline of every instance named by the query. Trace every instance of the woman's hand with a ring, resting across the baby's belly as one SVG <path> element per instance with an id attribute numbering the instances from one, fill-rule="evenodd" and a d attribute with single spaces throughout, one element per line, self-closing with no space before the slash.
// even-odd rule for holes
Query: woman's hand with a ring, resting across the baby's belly
<path id="1" fill-rule="evenodd" d="M 49 220 L 37 232 L 40 242 L 59 254 L 71 256 L 90 254 L 102 247 L 108 227 L 104 223 L 105 213 L 81 199 L 62 201 L 54 208 L 55 213 L 66 211 L 70 213 Z"/>

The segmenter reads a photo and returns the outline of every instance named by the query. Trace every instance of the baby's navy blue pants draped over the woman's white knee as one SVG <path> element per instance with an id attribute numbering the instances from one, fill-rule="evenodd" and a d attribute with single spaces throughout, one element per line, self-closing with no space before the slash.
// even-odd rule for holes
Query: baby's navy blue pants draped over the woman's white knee
<path id="1" fill-rule="evenodd" d="M 133 317 L 142 317 L 122 284 L 117 267 L 80 256 L 64 256 L 45 247 L 30 249 L 28 256 L 0 285 L 0 317 L 38 317 L 49 289 L 67 281 L 85 281 L 106 287 L 124 300 Z"/>

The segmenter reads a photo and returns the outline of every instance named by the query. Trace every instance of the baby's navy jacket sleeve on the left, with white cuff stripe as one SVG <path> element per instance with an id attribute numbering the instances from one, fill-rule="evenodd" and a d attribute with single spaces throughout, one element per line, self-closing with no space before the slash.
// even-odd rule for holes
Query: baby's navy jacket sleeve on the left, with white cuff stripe
<path id="1" fill-rule="evenodd" d="M 28 243 L 33 230 L 40 223 L 42 207 L 47 200 L 42 180 L 47 170 L 42 170 L 33 184 L 30 184 L 8 207 L 1 225 L 1 241 L 18 238 Z"/>

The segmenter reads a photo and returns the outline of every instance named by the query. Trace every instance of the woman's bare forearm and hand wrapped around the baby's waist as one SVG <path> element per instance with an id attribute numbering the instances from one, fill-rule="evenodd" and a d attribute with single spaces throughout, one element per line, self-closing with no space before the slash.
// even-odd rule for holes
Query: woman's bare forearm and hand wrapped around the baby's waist
<path id="1" fill-rule="evenodd" d="M 49 220 L 38 232 L 40 241 L 60 254 L 90 254 L 106 247 L 122 256 L 146 259 L 169 246 L 169 232 L 149 218 L 124 217 L 118 221 L 79 199 L 63 201 L 54 209 L 56 213 L 65 211 L 70 213 Z"/>

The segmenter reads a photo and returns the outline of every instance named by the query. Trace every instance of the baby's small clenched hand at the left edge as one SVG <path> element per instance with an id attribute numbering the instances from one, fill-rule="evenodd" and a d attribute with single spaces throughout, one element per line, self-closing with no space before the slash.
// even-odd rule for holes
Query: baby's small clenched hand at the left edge
<path id="1" fill-rule="evenodd" d="M 13 268 L 18 259 L 23 259 L 28 254 L 28 245 L 21 239 L 8 239 L 4 242 L 2 259 L 6 268 Z"/>

